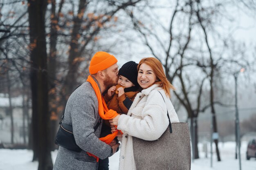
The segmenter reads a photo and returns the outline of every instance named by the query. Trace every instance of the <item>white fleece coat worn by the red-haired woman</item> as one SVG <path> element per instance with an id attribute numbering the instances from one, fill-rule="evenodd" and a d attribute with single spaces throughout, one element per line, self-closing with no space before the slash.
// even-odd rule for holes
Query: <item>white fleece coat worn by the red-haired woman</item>
<path id="1" fill-rule="evenodd" d="M 179 122 L 171 100 L 158 84 L 137 94 L 127 115 L 121 115 L 118 120 L 117 129 L 124 132 L 119 170 L 136 170 L 133 157 L 133 149 L 136 148 L 132 147 L 132 136 L 148 141 L 161 137 L 169 125 L 167 109 L 171 122 Z"/>

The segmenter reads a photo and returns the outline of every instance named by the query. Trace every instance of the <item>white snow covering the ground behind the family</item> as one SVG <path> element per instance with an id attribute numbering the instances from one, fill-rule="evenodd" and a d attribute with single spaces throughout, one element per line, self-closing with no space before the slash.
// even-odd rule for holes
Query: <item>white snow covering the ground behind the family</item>
<path id="1" fill-rule="evenodd" d="M 191 170 L 239 170 L 238 159 L 235 157 L 235 143 L 226 142 L 219 144 L 220 156 L 222 161 L 216 161 L 216 154 L 213 155 L 213 167 L 210 167 L 211 155 L 208 152 L 208 158 L 202 152 L 202 144 L 199 144 L 200 159 L 194 160 L 191 164 Z M 249 161 L 245 158 L 247 142 L 242 143 L 241 147 L 241 164 L 242 170 L 256 170 L 256 159 L 251 158 Z M 213 148 L 214 149 L 214 148 Z M 210 151 L 208 145 L 208 151 Z M 110 157 L 110 170 L 118 170 L 119 154 Z M 52 161 L 56 159 L 57 150 L 52 152 Z M 33 152 L 31 150 L 9 150 L 0 149 L 0 170 L 37 170 L 38 162 L 31 162 Z"/>

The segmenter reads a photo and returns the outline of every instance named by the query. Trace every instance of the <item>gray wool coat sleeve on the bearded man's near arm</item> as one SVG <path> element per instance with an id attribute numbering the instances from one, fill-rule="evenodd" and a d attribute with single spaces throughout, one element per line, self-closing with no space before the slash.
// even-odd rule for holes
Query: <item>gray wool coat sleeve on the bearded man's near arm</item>
<path id="1" fill-rule="evenodd" d="M 94 134 L 97 121 L 94 110 L 94 99 L 91 96 L 81 96 L 74 101 L 71 110 L 74 138 L 81 149 L 105 159 L 110 154 L 111 147 Z"/>

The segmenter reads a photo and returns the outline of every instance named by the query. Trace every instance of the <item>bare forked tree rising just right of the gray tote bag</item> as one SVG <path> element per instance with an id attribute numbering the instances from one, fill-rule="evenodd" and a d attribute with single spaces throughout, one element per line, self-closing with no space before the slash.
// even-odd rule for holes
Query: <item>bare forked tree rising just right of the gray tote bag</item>
<path id="1" fill-rule="evenodd" d="M 169 37 L 169 40 L 166 40 L 166 42 L 162 42 L 159 35 L 154 33 L 153 31 L 147 29 L 143 24 L 141 24 L 141 20 L 138 20 L 135 18 L 133 13 L 129 13 L 130 17 L 132 18 L 132 22 L 134 24 L 134 27 L 136 30 L 139 31 L 139 33 L 142 35 L 142 38 L 144 40 L 144 43 L 146 46 L 150 49 L 151 53 L 154 55 L 154 57 L 158 58 L 160 61 L 162 61 L 162 64 L 166 70 L 166 77 L 170 80 L 170 82 L 179 81 L 179 84 L 181 86 L 180 90 L 177 92 L 174 92 L 177 99 L 179 99 L 180 103 L 184 106 L 186 109 L 186 112 L 188 113 L 188 117 L 191 120 L 191 134 L 194 134 L 192 137 L 192 143 L 193 143 L 193 157 L 199 158 L 198 155 L 198 137 L 197 137 L 197 121 L 196 117 L 198 117 L 198 114 L 205 110 L 205 108 L 202 108 L 201 106 L 201 94 L 204 86 L 205 79 L 208 77 L 208 75 L 204 75 L 204 78 L 201 78 L 199 83 L 196 83 L 194 85 L 197 86 L 197 106 L 195 107 L 195 102 L 193 102 L 194 97 L 191 97 L 191 91 L 193 88 L 192 86 L 187 85 L 186 79 L 186 67 L 191 67 L 193 65 L 196 65 L 195 62 L 191 62 L 188 60 L 187 51 L 191 51 L 189 47 L 189 43 L 191 43 L 191 31 L 193 30 L 193 27 L 196 23 L 194 21 L 195 15 L 194 9 L 192 8 L 193 4 L 191 1 L 188 1 L 186 4 L 183 4 L 179 0 L 176 1 L 175 8 L 173 9 L 173 13 L 171 14 L 170 18 L 170 25 L 168 29 L 166 30 L 166 34 Z M 173 28 L 175 27 L 175 24 L 177 24 L 179 15 L 182 15 L 183 17 L 187 17 L 187 23 L 185 23 L 185 27 L 180 33 L 175 34 L 175 31 Z M 161 24 L 161 23 L 157 23 Z M 161 25 L 164 27 L 163 25 Z M 184 31 L 186 29 L 186 32 Z M 148 36 L 149 34 L 149 36 Z M 151 40 L 152 37 L 155 41 L 157 41 L 157 45 L 159 47 L 154 48 L 154 45 L 150 44 L 150 37 Z M 177 50 L 175 50 L 175 48 Z M 163 53 L 157 54 L 156 51 L 159 51 L 161 49 Z M 173 52 L 175 51 L 175 52 Z M 184 72 L 184 73 L 183 73 Z M 195 118 L 195 119 L 194 119 Z M 192 127 L 192 125 L 194 125 Z"/>

